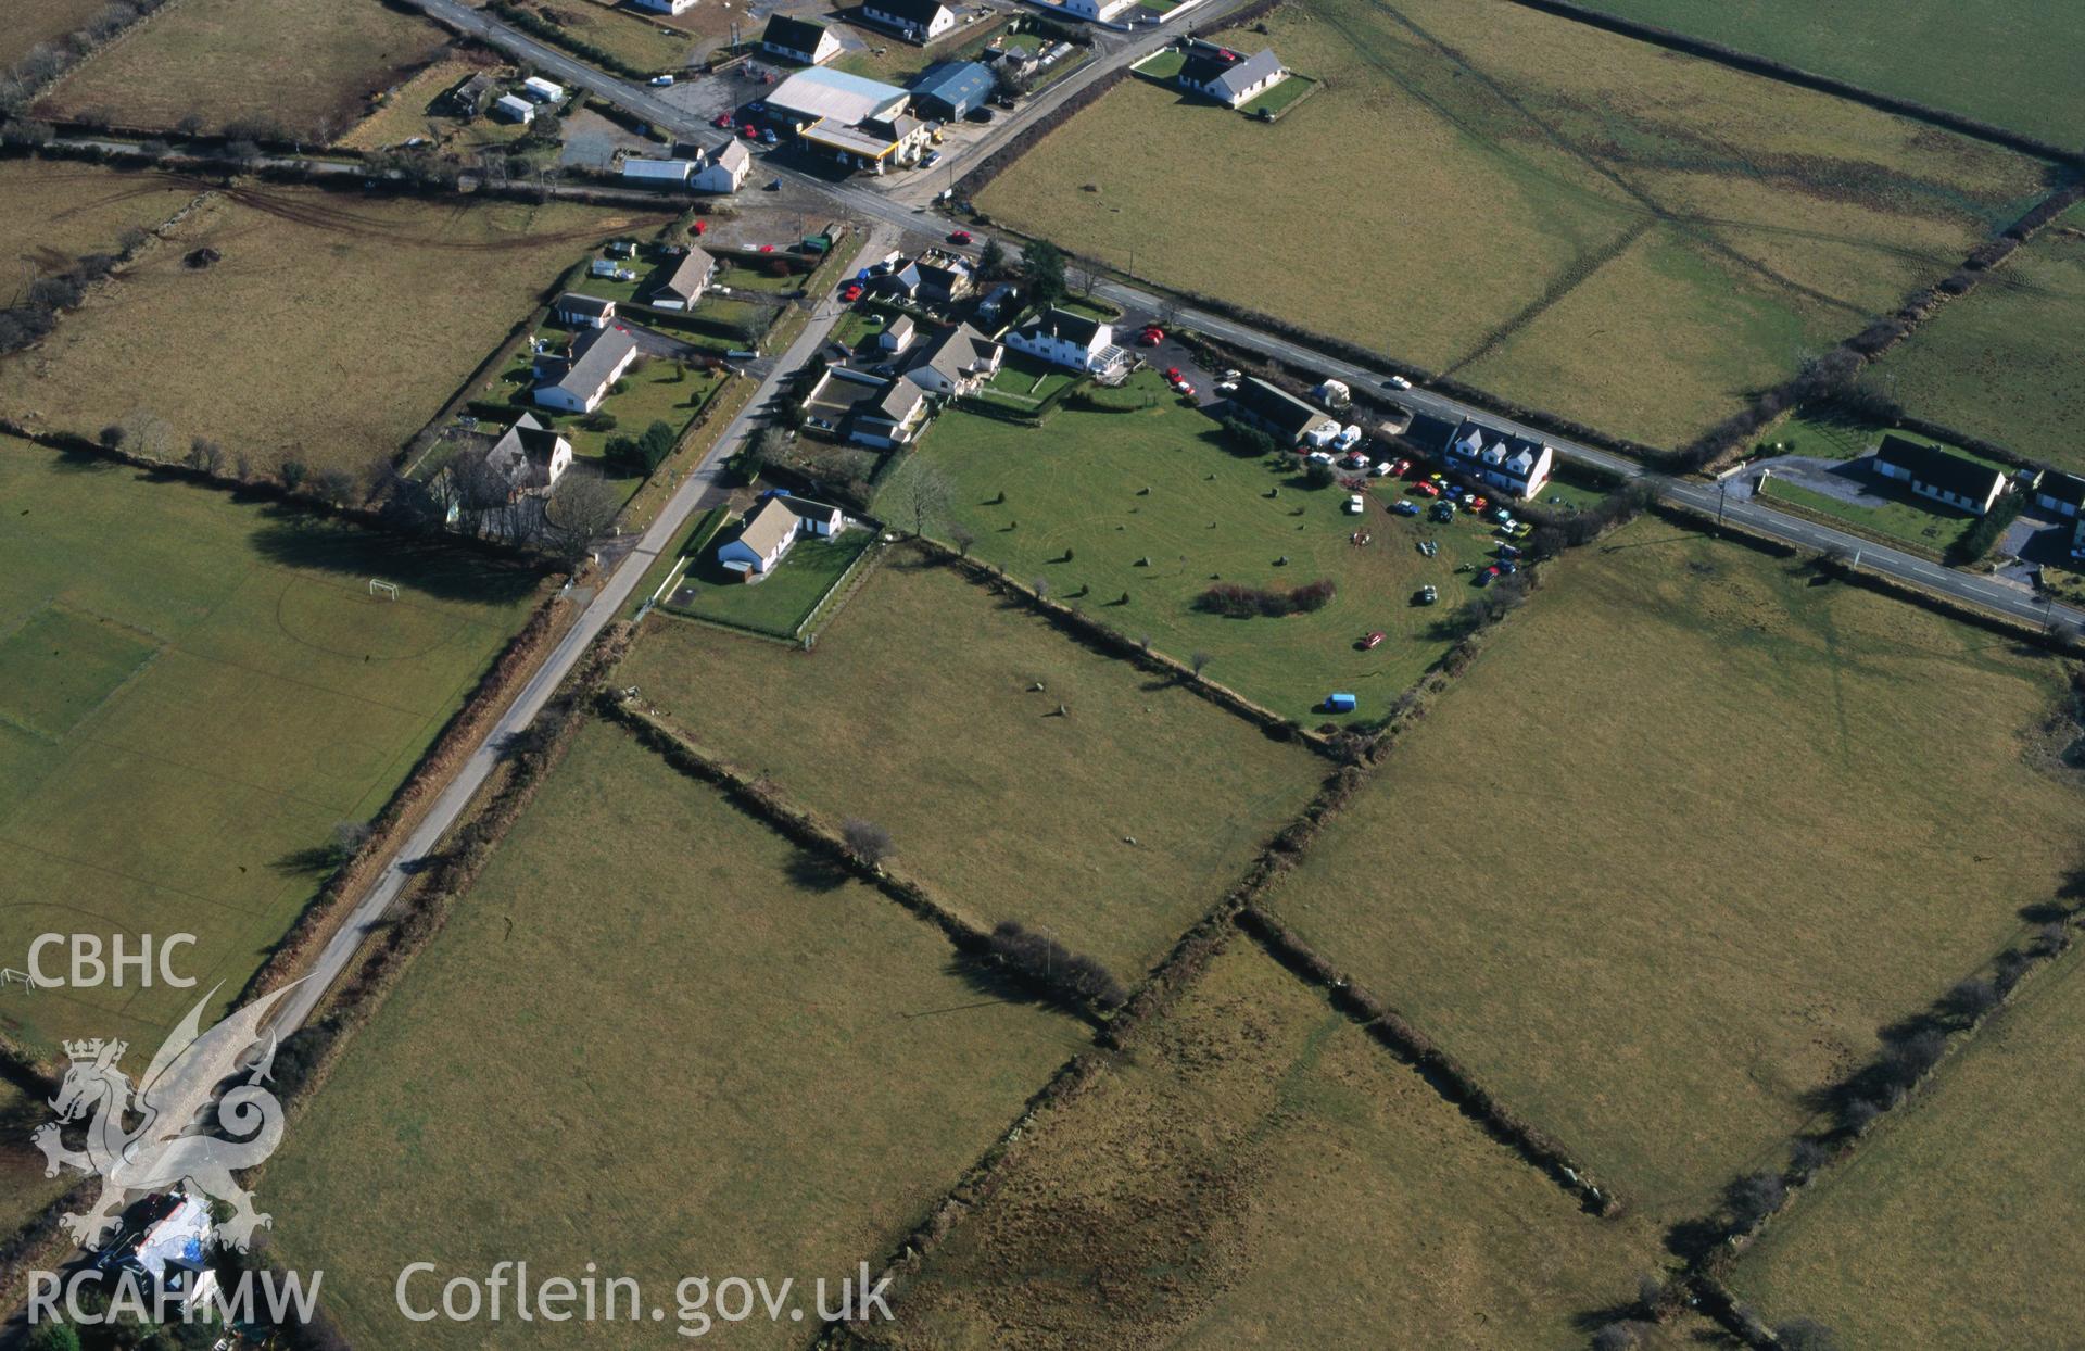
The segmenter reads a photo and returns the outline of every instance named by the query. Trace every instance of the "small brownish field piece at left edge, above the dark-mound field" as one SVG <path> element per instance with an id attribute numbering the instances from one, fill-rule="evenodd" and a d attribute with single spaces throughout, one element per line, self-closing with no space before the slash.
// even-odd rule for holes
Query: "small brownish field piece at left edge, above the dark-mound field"
<path id="1" fill-rule="evenodd" d="M 204 183 L 171 173 L 127 173 L 69 161 L 0 163 L 0 240 L 17 273 L 60 273 L 90 252 L 117 252 L 127 229 L 156 229 Z"/>

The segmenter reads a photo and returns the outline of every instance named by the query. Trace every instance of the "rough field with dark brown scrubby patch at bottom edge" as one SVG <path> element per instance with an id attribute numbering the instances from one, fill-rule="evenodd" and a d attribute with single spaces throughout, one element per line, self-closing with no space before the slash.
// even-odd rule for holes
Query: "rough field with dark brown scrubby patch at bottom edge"
<path id="1" fill-rule="evenodd" d="M 1238 938 L 1036 1120 L 878 1341 L 1576 1351 L 1658 1259 Z"/>

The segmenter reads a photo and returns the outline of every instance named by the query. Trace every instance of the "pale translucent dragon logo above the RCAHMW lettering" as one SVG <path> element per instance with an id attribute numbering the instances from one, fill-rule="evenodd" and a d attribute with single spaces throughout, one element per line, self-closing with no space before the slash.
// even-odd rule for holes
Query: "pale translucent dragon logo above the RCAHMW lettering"
<path id="1" fill-rule="evenodd" d="M 202 1009 L 217 994 L 213 988 L 167 1036 L 136 1090 L 117 1067 L 127 1042 L 65 1042 L 73 1063 L 58 1097 L 50 1099 L 58 1120 L 29 1138 L 48 1161 L 44 1176 L 73 1168 L 102 1178 L 94 1209 L 60 1220 L 73 1243 L 100 1247 L 133 1193 L 173 1186 L 229 1205 L 231 1215 L 213 1226 L 211 1238 L 242 1253 L 254 1230 L 271 1224 L 269 1215 L 254 1211 L 252 1193 L 234 1182 L 231 1172 L 261 1163 L 281 1145 L 281 1103 L 261 1086 L 275 1059 L 275 1036 L 263 1034 L 261 1022 L 292 988 L 284 986 L 202 1032 Z M 231 1078 L 240 1082 L 217 1097 L 217 1086 Z M 208 1113 L 213 1103 L 215 1117 Z M 85 1149 L 65 1147 L 60 1126 L 71 1122 L 85 1122 Z M 225 1134 L 213 1134 L 213 1128 Z"/>

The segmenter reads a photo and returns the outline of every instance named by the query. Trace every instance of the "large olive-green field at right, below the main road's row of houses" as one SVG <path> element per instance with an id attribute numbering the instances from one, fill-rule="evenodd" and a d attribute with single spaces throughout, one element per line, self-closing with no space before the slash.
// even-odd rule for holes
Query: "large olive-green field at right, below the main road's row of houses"
<path id="1" fill-rule="evenodd" d="M 2062 692 L 2006 638 L 1643 519 L 1555 567 L 1272 909 L 1693 1215 L 2077 865 L 2085 796 L 2029 759 Z"/>

